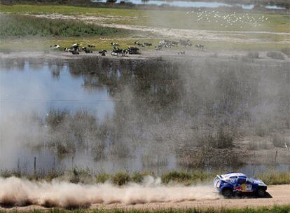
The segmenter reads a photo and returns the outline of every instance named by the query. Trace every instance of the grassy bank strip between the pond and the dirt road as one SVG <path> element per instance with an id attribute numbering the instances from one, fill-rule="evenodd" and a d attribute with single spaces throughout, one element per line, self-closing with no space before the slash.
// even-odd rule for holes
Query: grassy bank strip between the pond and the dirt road
<path id="1" fill-rule="evenodd" d="M 200 182 L 212 182 L 216 174 L 221 174 L 223 172 L 204 172 L 201 170 L 193 170 L 191 172 L 186 171 L 171 171 L 164 172 L 160 175 L 160 179 L 163 184 L 182 184 L 191 185 L 198 184 Z M 158 176 L 151 171 L 141 171 L 141 172 L 117 172 L 115 174 L 109 174 L 106 172 L 92 172 L 90 170 L 67 170 L 67 171 L 56 171 L 50 170 L 48 172 L 43 172 L 43 170 L 36 172 L 35 174 L 27 174 L 21 171 L 4 171 L 1 177 L 24 177 L 31 180 L 46 180 L 51 181 L 52 179 L 60 179 L 65 181 L 70 181 L 73 183 L 90 183 L 99 184 L 106 181 L 112 184 L 123 186 L 129 182 L 141 183 L 144 181 L 146 176 L 151 176 L 157 178 Z M 262 179 L 268 185 L 277 184 L 290 184 L 290 172 L 264 172 L 257 174 L 256 178 Z"/>

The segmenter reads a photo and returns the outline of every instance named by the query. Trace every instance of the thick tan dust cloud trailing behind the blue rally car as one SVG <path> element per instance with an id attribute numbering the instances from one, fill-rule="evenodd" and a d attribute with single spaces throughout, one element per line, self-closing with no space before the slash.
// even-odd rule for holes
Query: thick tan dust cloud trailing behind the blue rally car
<path id="1" fill-rule="evenodd" d="M 145 177 L 142 184 L 113 186 L 105 184 L 72 184 L 54 179 L 29 181 L 10 177 L 0 179 L 2 205 L 41 205 L 45 207 L 80 207 L 92 204 L 122 203 L 132 205 L 149 202 L 181 202 L 185 200 L 218 199 L 209 185 L 163 185 L 160 178 Z"/>

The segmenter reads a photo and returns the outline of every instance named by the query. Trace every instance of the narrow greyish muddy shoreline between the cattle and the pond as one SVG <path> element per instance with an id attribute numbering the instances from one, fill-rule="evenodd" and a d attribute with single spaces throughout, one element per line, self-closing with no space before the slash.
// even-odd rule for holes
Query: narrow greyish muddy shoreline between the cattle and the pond
<path id="1" fill-rule="evenodd" d="M 179 55 L 179 50 L 156 50 L 156 51 L 141 51 L 139 55 L 127 55 L 123 56 L 112 56 L 108 53 L 106 56 L 101 56 L 99 53 L 80 53 L 80 55 L 71 55 L 71 53 L 64 53 L 59 51 L 50 51 L 50 53 L 43 52 L 11 52 L 11 53 L 0 53 L 0 60 L 13 60 L 13 59 L 39 59 L 39 60 L 76 60 L 84 57 L 97 57 L 97 58 L 109 58 L 111 60 L 193 60 L 196 57 L 212 57 L 219 60 L 239 60 L 242 57 L 247 57 L 249 62 L 258 61 L 275 61 L 275 62 L 290 62 L 290 57 L 284 55 L 284 60 L 276 60 L 266 56 L 267 51 L 255 51 L 259 54 L 258 58 L 247 57 L 249 51 L 198 51 L 198 50 L 186 50 L 185 55 Z"/>

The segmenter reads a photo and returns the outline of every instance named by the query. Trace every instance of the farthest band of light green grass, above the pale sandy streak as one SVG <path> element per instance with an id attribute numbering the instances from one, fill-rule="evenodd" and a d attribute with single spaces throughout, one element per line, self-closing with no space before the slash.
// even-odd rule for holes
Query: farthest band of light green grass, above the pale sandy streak
<path id="1" fill-rule="evenodd" d="M 146 25 L 151 27 L 167 27 L 182 29 L 207 29 L 207 30 L 225 30 L 225 31 L 269 31 L 269 32 L 290 32 L 289 15 L 280 14 L 262 14 L 250 13 L 251 16 L 258 19 L 261 15 L 268 16 L 270 23 L 263 22 L 261 27 L 253 25 L 233 25 L 224 27 L 226 20 L 219 20 L 219 23 L 208 22 L 207 20 L 198 19 L 197 13 L 186 15 L 184 11 L 166 11 L 166 10 L 134 10 L 128 8 L 89 8 L 76 6 L 34 6 L 34 5 L 14 5 L 1 6 L 1 12 L 5 13 L 30 13 L 30 14 L 62 14 L 62 15 L 90 15 L 108 18 L 103 20 L 109 24 L 124 25 Z M 220 15 L 230 14 L 221 11 Z M 246 13 L 236 13 L 237 16 Z M 223 24 L 223 26 L 221 26 Z M 240 28 L 242 26 L 242 28 Z"/>

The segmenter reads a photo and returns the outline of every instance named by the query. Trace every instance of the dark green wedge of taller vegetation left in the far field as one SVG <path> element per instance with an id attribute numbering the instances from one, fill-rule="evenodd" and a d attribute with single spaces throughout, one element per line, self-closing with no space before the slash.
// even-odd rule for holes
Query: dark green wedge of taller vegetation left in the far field
<path id="1" fill-rule="evenodd" d="M 78 21 L 36 18 L 27 15 L 0 15 L 0 39 L 32 36 L 117 36 L 128 31 Z"/>

